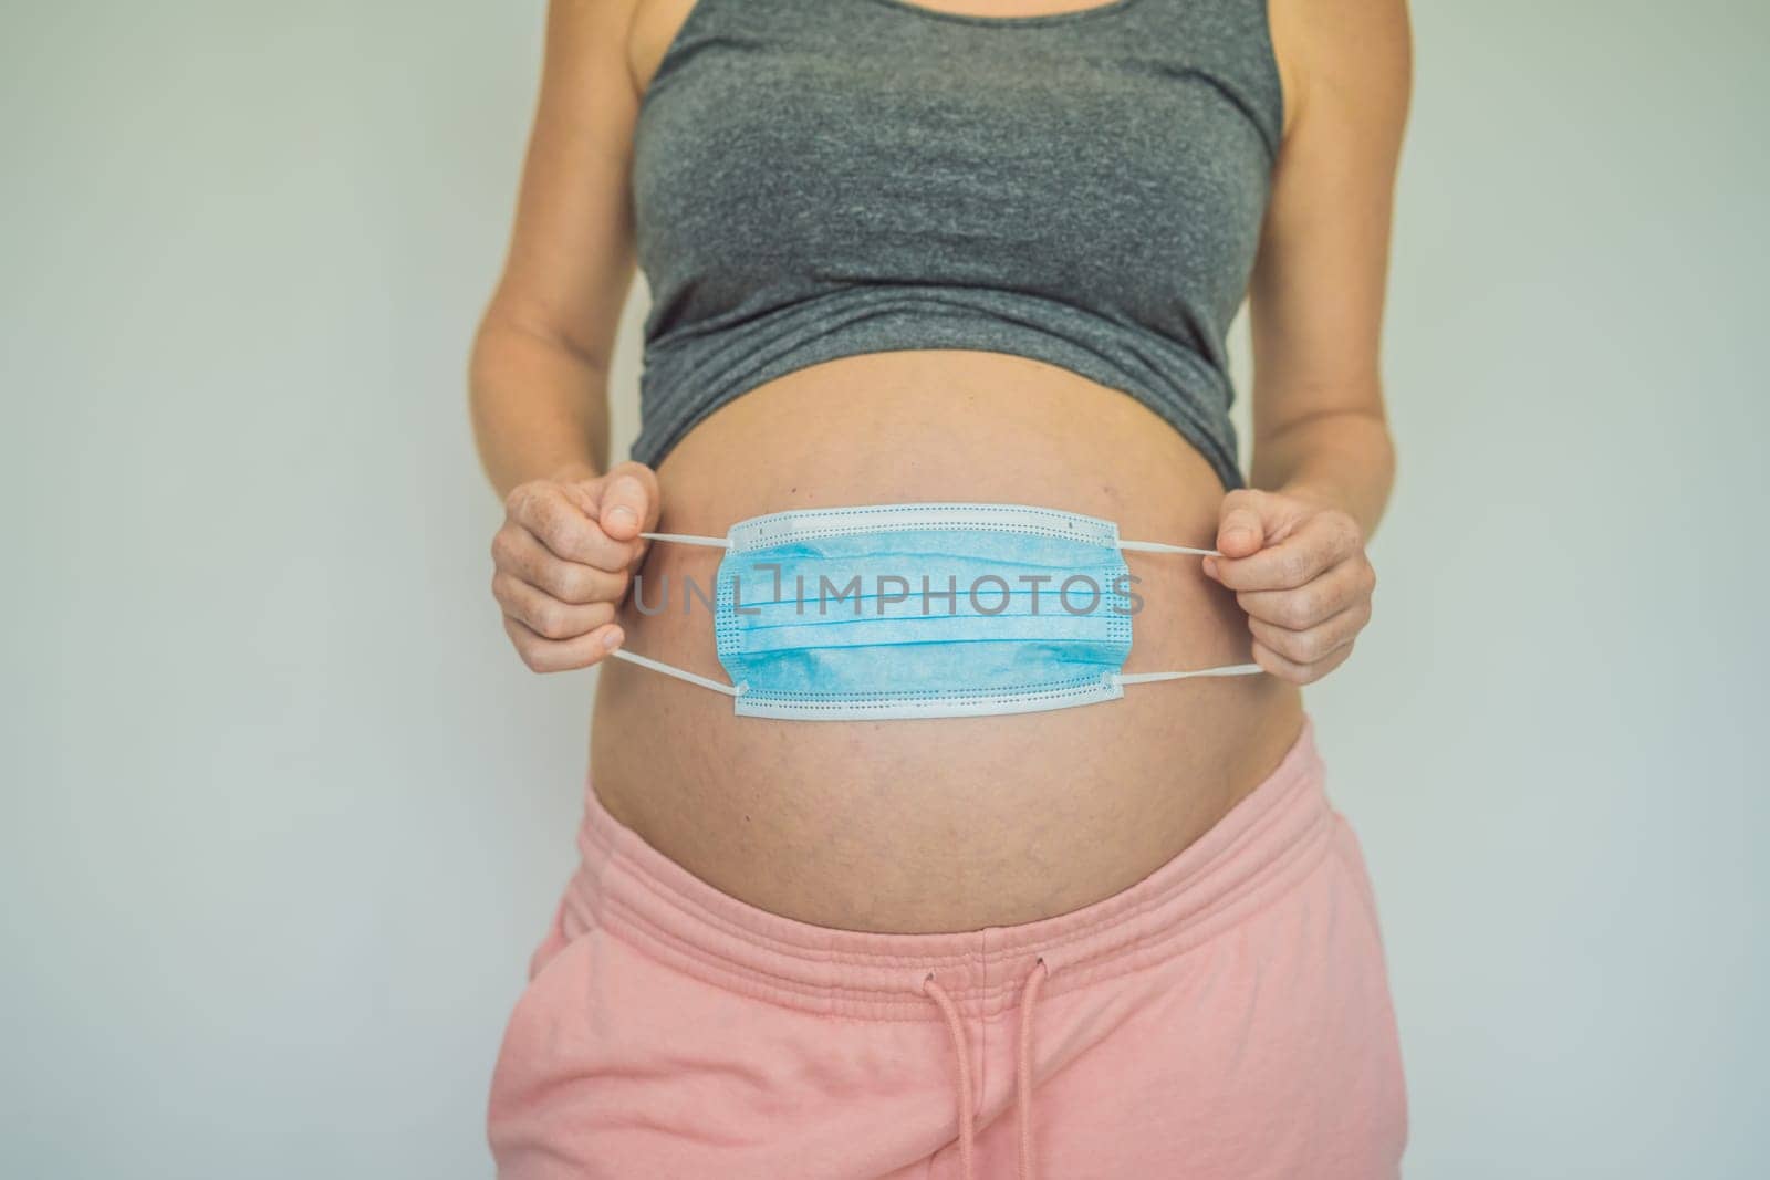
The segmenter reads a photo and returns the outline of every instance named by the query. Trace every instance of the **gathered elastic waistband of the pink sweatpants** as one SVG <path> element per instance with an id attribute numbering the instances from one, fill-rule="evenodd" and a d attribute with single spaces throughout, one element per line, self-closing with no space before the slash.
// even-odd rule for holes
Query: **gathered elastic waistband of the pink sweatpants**
<path id="1" fill-rule="evenodd" d="M 1020 925 L 880 934 L 768 913 L 646 844 L 586 789 L 581 863 L 561 908 L 717 987 L 777 1005 L 864 1019 L 942 1019 L 933 973 L 965 1015 L 1020 1001 L 1043 961 L 1062 994 L 1172 959 L 1232 927 L 1306 876 L 1331 847 L 1335 812 L 1315 724 L 1223 819 L 1112 897 Z"/>

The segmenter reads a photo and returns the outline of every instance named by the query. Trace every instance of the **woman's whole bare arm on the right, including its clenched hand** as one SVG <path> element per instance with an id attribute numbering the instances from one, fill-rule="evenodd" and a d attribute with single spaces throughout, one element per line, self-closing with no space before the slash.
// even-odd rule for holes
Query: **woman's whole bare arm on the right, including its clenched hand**
<path id="1" fill-rule="evenodd" d="M 1253 658 L 1320 679 L 1370 621 L 1365 541 L 1395 483 L 1379 352 L 1395 170 L 1412 87 L 1405 0 L 1273 0 L 1287 127 L 1250 281 L 1253 471 L 1221 559 Z"/>

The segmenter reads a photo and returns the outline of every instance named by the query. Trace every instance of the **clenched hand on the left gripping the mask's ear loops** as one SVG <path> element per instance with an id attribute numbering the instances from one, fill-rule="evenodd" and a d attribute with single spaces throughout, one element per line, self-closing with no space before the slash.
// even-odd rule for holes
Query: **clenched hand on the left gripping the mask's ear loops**
<path id="1" fill-rule="evenodd" d="M 644 464 L 604 476 L 566 471 L 517 485 L 492 538 L 492 596 L 535 672 L 591 667 L 621 646 L 614 612 L 657 527 L 658 481 Z"/>

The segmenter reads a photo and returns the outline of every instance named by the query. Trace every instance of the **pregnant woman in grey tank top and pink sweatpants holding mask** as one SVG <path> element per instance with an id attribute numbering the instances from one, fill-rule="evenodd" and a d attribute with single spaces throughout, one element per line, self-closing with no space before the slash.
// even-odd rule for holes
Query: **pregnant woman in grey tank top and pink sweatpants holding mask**
<path id="1" fill-rule="evenodd" d="M 473 416 L 512 642 L 602 670 L 501 1176 L 1397 1175 L 1301 686 L 1393 478 L 1402 5 L 554 0 Z"/>

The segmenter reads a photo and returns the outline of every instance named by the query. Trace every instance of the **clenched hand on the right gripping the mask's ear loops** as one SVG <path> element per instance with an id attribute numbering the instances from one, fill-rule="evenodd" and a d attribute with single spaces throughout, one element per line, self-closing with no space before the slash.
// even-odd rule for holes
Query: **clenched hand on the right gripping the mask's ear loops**
<path id="1" fill-rule="evenodd" d="M 1253 662 L 1308 685 L 1352 655 L 1370 623 L 1377 571 L 1351 513 L 1301 495 L 1237 488 L 1218 511 L 1218 552 L 1204 570 L 1248 612 Z"/>

